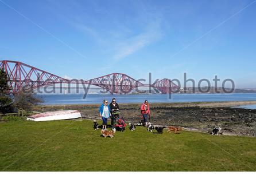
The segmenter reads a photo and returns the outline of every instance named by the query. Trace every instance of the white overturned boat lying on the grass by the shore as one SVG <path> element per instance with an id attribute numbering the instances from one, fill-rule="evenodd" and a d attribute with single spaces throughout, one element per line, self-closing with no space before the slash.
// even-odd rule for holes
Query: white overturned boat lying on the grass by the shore
<path id="1" fill-rule="evenodd" d="M 52 121 L 52 120 L 69 120 L 80 118 L 81 113 L 78 110 L 59 110 L 55 112 L 46 112 L 29 116 L 26 120 L 32 121 Z"/>

